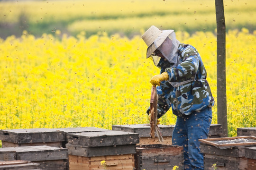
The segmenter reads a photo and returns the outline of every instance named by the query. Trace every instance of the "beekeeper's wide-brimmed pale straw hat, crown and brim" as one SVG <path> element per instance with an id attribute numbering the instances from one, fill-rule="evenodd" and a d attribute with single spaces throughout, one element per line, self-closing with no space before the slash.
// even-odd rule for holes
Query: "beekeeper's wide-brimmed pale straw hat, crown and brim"
<path id="1" fill-rule="evenodd" d="M 172 33 L 174 30 L 160 30 L 156 26 L 150 26 L 148 30 L 141 36 L 144 42 L 147 45 L 146 58 L 150 57 L 152 53 L 165 41 L 165 39 Z M 155 46 L 155 40 L 161 35 L 161 39 L 158 39 L 159 44 Z"/>

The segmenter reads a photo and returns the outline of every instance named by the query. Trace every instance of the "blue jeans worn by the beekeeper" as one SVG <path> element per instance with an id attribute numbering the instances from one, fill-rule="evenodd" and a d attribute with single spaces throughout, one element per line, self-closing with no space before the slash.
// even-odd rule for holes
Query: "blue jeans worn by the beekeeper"
<path id="1" fill-rule="evenodd" d="M 198 139 L 208 137 L 212 110 L 193 111 L 188 116 L 177 117 L 172 136 L 173 145 L 183 146 L 184 170 L 203 170 L 203 154 Z"/>

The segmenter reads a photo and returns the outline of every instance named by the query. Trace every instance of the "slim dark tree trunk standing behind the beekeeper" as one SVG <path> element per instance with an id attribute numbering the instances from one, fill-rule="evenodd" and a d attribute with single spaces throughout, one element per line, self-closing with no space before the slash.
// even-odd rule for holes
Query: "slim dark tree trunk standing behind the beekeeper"
<path id="1" fill-rule="evenodd" d="M 223 0 L 215 0 L 217 22 L 217 114 L 223 136 L 228 136 L 226 93 L 226 25 Z"/>

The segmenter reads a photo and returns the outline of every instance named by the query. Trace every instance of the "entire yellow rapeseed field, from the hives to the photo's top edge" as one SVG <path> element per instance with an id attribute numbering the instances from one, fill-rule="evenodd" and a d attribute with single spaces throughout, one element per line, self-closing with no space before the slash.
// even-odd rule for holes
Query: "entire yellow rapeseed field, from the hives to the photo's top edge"
<path id="1" fill-rule="evenodd" d="M 256 3 L 224 6 L 228 127 L 235 136 L 237 127 L 256 127 Z M 197 48 L 217 105 L 213 0 L 0 1 L 1 30 L 27 29 L 0 38 L 0 129 L 149 123 L 149 80 L 160 70 L 146 59 L 140 36 L 151 25 L 174 29 L 180 42 Z M 175 120 L 170 110 L 161 124 Z"/>

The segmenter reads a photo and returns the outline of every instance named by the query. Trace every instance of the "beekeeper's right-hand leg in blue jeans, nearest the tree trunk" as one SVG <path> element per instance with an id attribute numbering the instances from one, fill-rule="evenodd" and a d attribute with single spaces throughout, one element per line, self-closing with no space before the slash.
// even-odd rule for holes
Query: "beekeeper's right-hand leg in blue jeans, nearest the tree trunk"
<path id="1" fill-rule="evenodd" d="M 203 154 L 200 152 L 200 142 L 198 139 L 208 137 L 212 118 L 211 108 L 192 112 L 187 120 L 188 130 L 188 153 L 192 170 L 203 170 Z"/>

